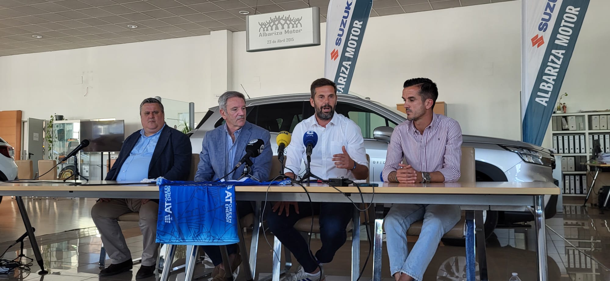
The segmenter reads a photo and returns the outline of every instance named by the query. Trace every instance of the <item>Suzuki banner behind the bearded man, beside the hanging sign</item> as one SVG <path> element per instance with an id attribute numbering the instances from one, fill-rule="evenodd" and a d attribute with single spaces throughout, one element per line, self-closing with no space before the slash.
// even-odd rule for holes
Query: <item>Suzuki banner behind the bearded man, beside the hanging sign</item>
<path id="1" fill-rule="evenodd" d="M 337 83 L 337 92 L 350 91 L 373 0 L 331 0 L 326 15 L 324 77 Z"/>

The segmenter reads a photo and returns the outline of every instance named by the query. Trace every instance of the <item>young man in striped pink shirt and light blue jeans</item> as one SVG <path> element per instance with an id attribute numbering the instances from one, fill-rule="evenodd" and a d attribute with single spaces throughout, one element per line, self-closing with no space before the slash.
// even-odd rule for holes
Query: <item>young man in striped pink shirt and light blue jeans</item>
<path id="1" fill-rule="evenodd" d="M 392 133 L 382 171 L 384 181 L 403 184 L 458 181 L 462 130 L 456 120 L 433 113 L 438 96 L 436 83 L 428 78 L 404 82 L 407 120 Z M 403 158 L 406 164 L 401 164 Z M 454 205 L 393 204 L 385 229 L 390 273 L 394 279 L 421 281 L 440 238 L 460 217 L 460 208 Z M 423 220 L 422 231 L 409 253 L 407 229 L 419 220 Z"/>

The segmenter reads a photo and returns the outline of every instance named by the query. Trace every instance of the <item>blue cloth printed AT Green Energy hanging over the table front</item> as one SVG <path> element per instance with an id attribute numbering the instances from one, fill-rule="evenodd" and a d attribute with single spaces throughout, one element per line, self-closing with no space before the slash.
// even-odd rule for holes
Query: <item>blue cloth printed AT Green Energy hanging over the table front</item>
<path id="1" fill-rule="evenodd" d="M 235 186 L 203 182 L 159 185 L 157 243 L 229 245 L 239 242 Z"/>

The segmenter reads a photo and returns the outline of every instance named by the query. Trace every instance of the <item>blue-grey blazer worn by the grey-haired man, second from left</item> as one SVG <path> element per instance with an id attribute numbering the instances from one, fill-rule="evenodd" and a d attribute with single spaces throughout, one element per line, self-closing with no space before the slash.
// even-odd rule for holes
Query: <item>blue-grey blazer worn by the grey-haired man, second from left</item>
<path id="1" fill-rule="evenodd" d="M 246 154 L 245 148 L 252 139 L 262 139 L 265 142 L 265 148 L 256 158 L 252 158 L 253 167 L 251 167 L 252 175 L 260 181 L 267 181 L 271 171 L 271 151 L 270 142 L 271 135 L 269 131 L 258 127 L 253 123 L 247 122 L 243 125 L 242 131 L 235 140 L 237 151 L 235 151 L 234 163 L 237 163 Z M 199 165 L 195 174 L 195 181 L 215 181 L 218 178 L 226 175 L 227 170 L 227 137 L 224 131 L 224 125 L 208 131 L 203 138 L 203 147 L 199 153 Z M 238 179 L 243 172 L 242 167 L 237 168 L 234 173 L 226 177 L 225 180 Z"/>

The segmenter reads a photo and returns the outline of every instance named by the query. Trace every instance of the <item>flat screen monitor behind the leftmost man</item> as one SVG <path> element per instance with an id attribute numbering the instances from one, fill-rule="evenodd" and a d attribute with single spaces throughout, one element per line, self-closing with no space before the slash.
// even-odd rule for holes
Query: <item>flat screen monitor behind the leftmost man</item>
<path id="1" fill-rule="evenodd" d="M 81 121 L 83 139 L 89 140 L 83 151 L 120 151 L 125 141 L 124 121 Z"/>

